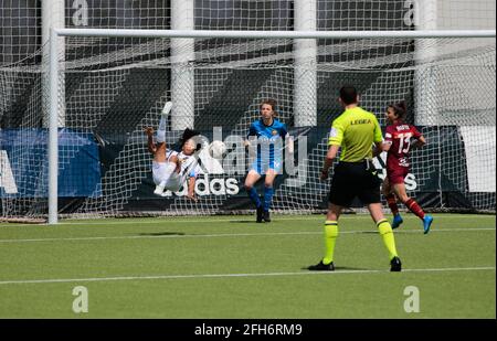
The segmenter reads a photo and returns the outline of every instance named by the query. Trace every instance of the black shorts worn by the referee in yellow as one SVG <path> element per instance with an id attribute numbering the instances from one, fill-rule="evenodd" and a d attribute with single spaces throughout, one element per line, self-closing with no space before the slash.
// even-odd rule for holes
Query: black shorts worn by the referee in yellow
<path id="1" fill-rule="evenodd" d="M 367 161 L 339 162 L 335 168 L 329 192 L 329 202 L 349 207 L 357 196 L 363 204 L 379 203 L 381 180 L 371 170 Z"/>

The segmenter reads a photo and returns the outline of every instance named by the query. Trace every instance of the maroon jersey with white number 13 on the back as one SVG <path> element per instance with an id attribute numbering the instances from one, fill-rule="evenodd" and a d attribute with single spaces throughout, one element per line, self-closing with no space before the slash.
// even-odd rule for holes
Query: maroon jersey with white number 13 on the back
<path id="1" fill-rule="evenodd" d="M 419 139 L 420 137 L 421 132 L 414 126 L 403 122 L 388 126 L 384 141 L 391 146 L 387 157 L 387 169 L 409 169 L 411 139 Z"/>

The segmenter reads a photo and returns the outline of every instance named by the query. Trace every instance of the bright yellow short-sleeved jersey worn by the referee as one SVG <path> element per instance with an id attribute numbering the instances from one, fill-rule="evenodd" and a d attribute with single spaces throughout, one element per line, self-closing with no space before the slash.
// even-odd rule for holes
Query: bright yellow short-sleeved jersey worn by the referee
<path id="1" fill-rule="evenodd" d="M 371 159 L 373 142 L 382 140 L 377 117 L 361 107 L 355 107 L 334 120 L 328 145 L 341 147 L 340 161 L 359 162 Z"/>

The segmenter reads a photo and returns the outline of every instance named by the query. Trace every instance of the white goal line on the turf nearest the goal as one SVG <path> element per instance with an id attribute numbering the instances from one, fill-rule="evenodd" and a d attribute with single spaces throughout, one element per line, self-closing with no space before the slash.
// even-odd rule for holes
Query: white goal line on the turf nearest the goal
<path id="1" fill-rule="evenodd" d="M 430 233 L 437 232 L 475 232 L 475 231 L 496 231 L 495 227 L 468 227 L 468 228 L 444 228 L 432 230 Z M 168 232 L 165 232 L 168 233 Z M 262 232 L 262 233 L 216 233 L 216 234 L 172 234 L 168 235 L 133 235 L 133 236 L 102 236 L 102 237 L 65 237 L 65 238 L 30 238 L 30 239 L 0 239 L 0 244 L 7 243 L 36 243 L 36 242 L 76 242 L 76 241 L 112 241 L 112 239 L 159 239 L 159 238 L 218 238 L 218 237 L 257 237 L 257 236 L 290 236 L 290 235 L 320 235 L 322 232 Z M 367 234 L 376 233 L 374 230 L 368 231 L 343 231 L 340 234 Z M 423 234 L 419 231 L 395 231 L 395 234 Z"/>

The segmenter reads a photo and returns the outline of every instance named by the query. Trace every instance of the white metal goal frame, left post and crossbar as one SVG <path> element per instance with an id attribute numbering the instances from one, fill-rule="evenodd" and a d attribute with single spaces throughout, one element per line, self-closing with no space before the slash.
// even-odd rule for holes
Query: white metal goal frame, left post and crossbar
<path id="1" fill-rule="evenodd" d="M 419 31 L 180 31 L 52 29 L 50 39 L 50 127 L 49 127 L 49 224 L 57 223 L 59 169 L 59 51 L 60 38 L 182 38 L 182 39 L 468 39 L 495 38 L 495 30 L 419 30 Z"/>

